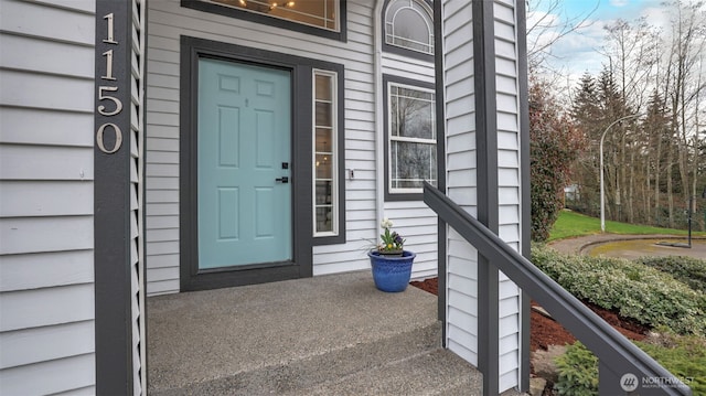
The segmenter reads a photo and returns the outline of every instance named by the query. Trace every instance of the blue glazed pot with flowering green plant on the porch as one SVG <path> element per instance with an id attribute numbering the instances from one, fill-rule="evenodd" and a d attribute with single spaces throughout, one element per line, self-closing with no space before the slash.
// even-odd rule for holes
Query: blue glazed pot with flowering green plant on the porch
<path id="1" fill-rule="evenodd" d="M 387 292 L 404 291 L 409 285 L 411 265 L 417 255 L 404 249 L 405 239 L 397 232 L 392 231 L 392 221 L 383 218 L 381 227 L 383 228 L 381 243 L 376 249 L 367 253 L 375 287 Z"/>

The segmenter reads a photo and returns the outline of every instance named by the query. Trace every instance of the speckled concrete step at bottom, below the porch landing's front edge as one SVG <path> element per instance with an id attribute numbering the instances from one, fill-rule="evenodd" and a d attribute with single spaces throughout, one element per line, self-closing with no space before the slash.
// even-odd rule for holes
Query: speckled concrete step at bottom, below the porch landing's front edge
<path id="1" fill-rule="evenodd" d="M 345 388 L 352 384 L 364 387 L 370 378 L 387 371 L 394 373 L 389 377 L 392 383 L 376 381 L 395 387 L 397 382 L 417 383 L 415 378 L 408 377 L 409 374 L 404 374 L 404 367 L 411 367 L 413 373 L 424 374 L 431 370 L 438 375 L 446 375 L 445 370 L 438 368 L 446 365 L 451 368 L 462 365 L 469 378 L 477 373 L 468 363 L 441 349 L 441 323 L 435 322 L 372 342 L 345 345 L 323 354 L 302 356 L 226 377 L 181 387 L 150 388 L 150 395 L 338 395 L 346 394 Z M 426 377 L 429 378 L 429 375 Z M 447 382 L 445 386 L 459 381 L 461 379 Z M 355 392 L 351 389 L 351 394 L 365 394 L 360 385 L 354 388 Z M 339 390 L 332 392 L 333 389 Z"/>

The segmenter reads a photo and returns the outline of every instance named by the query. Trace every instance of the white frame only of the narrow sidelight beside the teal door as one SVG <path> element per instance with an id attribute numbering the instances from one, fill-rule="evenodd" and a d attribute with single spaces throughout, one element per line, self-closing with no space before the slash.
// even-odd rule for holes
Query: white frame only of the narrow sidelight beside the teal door
<path id="1" fill-rule="evenodd" d="M 317 76 L 327 76 L 331 78 L 331 125 L 330 126 L 319 126 L 317 125 Z M 311 139 L 311 145 L 312 145 L 312 167 L 311 167 L 311 173 L 312 173 L 312 183 L 311 183 L 311 194 L 312 194 L 312 205 L 313 205 L 313 211 L 312 211 L 312 224 L 313 224 L 313 236 L 314 237 L 327 237 L 327 236 L 339 236 L 340 232 L 341 232 L 341 226 L 340 226 L 340 210 L 341 210 L 341 204 L 339 202 L 340 196 L 339 196 L 339 183 L 341 183 L 341 181 L 339 180 L 339 162 L 340 162 L 340 158 L 339 158 L 339 74 L 336 72 L 332 72 L 332 71 L 325 71 L 325 69 L 318 69 L 314 68 L 312 69 L 312 84 L 311 84 L 311 97 L 312 97 L 312 114 L 311 114 L 311 120 L 312 120 L 312 139 Z M 331 151 L 327 151 L 327 152 L 317 152 L 317 128 L 330 128 L 331 129 Z M 322 179 L 317 179 L 317 154 L 329 154 L 331 156 L 331 203 L 330 204 L 318 204 L 317 203 L 317 181 L 318 180 L 322 180 Z M 323 181 L 328 181 L 323 180 Z M 317 208 L 319 207 L 331 207 L 331 231 L 324 231 L 324 232 L 320 232 L 317 228 Z"/>

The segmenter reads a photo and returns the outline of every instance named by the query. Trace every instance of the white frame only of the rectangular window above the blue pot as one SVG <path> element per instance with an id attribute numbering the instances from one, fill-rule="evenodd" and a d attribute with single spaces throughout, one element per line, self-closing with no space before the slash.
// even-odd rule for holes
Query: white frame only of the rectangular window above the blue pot
<path id="1" fill-rule="evenodd" d="M 429 93 L 432 95 L 434 100 L 429 101 L 431 105 L 431 120 L 430 120 L 430 125 L 434 128 L 434 139 L 424 139 L 424 138 L 408 138 L 408 137 L 398 137 L 398 136 L 393 136 L 393 117 L 396 115 L 392 114 L 392 103 L 393 103 L 393 87 L 398 87 L 398 88 L 404 88 L 404 89 L 413 89 L 413 90 L 418 90 L 418 92 L 424 92 L 424 93 Z M 435 149 L 437 148 L 437 142 L 439 139 L 439 133 L 437 131 L 437 115 L 436 115 L 436 92 L 432 88 L 425 88 L 425 87 L 420 87 L 420 86 L 415 86 L 415 85 L 410 85 L 410 84 L 402 84 L 402 83 L 397 83 L 397 82 L 388 82 L 387 83 L 387 108 L 385 109 L 385 111 L 387 111 L 387 152 L 385 153 L 387 156 L 387 191 L 389 192 L 389 194 L 420 194 L 422 192 L 422 188 L 394 188 L 394 174 L 393 174 L 393 143 L 395 141 L 399 141 L 399 142 L 410 142 L 410 143 L 422 143 L 422 145 L 429 145 L 432 146 Z M 438 156 L 438 151 L 437 151 L 437 156 Z M 438 160 L 438 159 L 437 159 Z M 432 181 L 435 183 L 438 183 L 438 178 L 439 178 L 439 169 L 438 169 L 438 164 L 430 163 L 430 167 L 434 165 L 434 168 L 437 169 L 437 174 L 436 174 L 436 179 L 434 179 Z M 426 179 L 425 179 L 426 180 Z"/>

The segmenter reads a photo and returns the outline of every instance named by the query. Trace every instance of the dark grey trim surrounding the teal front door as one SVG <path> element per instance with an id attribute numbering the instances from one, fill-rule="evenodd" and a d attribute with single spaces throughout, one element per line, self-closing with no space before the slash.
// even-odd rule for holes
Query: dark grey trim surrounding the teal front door
<path id="1" fill-rule="evenodd" d="M 211 57 L 291 71 L 292 84 L 292 260 L 264 266 L 199 269 L 196 100 L 199 58 Z M 180 115 L 180 287 L 181 291 L 215 289 L 312 276 L 311 62 L 291 55 L 181 38 Z M 296 107 L 296 110 L 295 110 Z"/>

